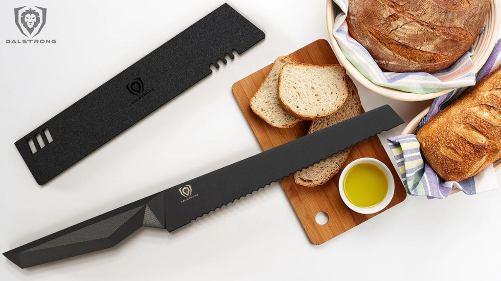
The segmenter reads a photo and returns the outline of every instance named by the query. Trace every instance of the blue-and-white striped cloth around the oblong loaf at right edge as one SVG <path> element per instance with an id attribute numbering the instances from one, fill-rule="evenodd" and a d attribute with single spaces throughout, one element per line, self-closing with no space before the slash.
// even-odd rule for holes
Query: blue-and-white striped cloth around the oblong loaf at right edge
<path id="1" fill-rule="evenodd" d="M 501 40 L 498 40 L 489 58 L 482 66 L 476 80 L 485 77 L 492 69 L 501 62 Z M 437 97 L 433 100 L 430 110 L 419 124 L 421 127 L 430 118 L 435 116 L 447 105 L 452 103 L 469 87 L 455 89 L 448 94 Z M 445 198 L 455 187 L 464 193 L 471 195 L 479 192 L 497 188 L 497 179 L 494 168 L 489 165 L 475 176 L 460 182 L 444 181 L 435 173 L 426 162 L 419 150 L 419 142 L 415 134 L 403 134 L 388 138 L 391 152 L 395 156 L 397 166 L 402 177 L 405 189 L 410 195 L 426 195 L 428 198 Z"/>

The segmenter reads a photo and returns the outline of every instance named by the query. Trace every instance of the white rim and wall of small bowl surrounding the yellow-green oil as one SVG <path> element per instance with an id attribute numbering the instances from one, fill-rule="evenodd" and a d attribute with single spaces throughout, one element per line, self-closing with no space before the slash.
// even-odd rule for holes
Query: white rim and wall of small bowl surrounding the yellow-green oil
<path id="1" fill-rule="evenodd" d="M 372 206 L 372 207 L 368 207 L 368 208 L 359 207 L 359 206 L 354 205 L 352 202 L 350 202 L 350 200 L 348 200 L 348 198 L 346 197 L 346 194 L 345 194 L 344 188 L 343 188 L 343 182 L 344 182 L 344 178 L 346 176 L 346 173 L 350 170 L 351 167 L 353 167 L 354 165 L 359 164 L 359 163 L 371 163 L 371 164 L 378 166 L 384 172 L 384 174 L 386 175 L 386 179 L 388 181 L 388 192 L 386 193 L 386 196 L 384 197 L 384 199 L 379 204 Z M 378 211 L 384 209 L 390 203 L 391 199 L 393 198 L 393 193 L 395 193 L 395 181 L 393 181 L 393 176 L 391 175 L 390 169 L 380 160 L 374 159 L 374 158 L 369 158 L 369 157 L 359 158 L 359 159 L 356 159 L 356 160 L 352 161 L 351 163 L 349 163 L 343 169 L 343 171 L 341 172 L 341 175 L 339 176 L 338 186 L 339 186 L 339 194 L 341 194 L 341 199 L 343 199 L 343 202 L 345 202 L 345 204 L 350 209 L 352 209 L 358 213 L 365 213 L 365 214 L 375 213 L 375 212 L 378 212 Z"/>

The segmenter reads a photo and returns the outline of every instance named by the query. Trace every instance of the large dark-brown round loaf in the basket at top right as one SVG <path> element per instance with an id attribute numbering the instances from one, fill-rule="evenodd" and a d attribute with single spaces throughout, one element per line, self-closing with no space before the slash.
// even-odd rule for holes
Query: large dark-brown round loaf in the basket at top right
<path id="1" fill-rule="evenodd" d="M 489 0 L 350 0 L 346 20 L 381 68 L 434 72 L 471 47 L 489 6 Z"/>

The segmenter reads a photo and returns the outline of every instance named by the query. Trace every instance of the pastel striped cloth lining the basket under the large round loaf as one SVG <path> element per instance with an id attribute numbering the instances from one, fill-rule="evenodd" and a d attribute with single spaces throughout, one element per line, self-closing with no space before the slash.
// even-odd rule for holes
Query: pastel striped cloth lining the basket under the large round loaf
<path id="1" fill-rule="evenodd" d="M 430 93 L 475 84 L 471 53 L 466 52 L 449 68 L 433 73 L 382 70 L 367 49 L 348 32 L 348 0 L 333 0 L 337 9 L 333 35 L 346 58 L 374 84 L 412 93 Z"/>

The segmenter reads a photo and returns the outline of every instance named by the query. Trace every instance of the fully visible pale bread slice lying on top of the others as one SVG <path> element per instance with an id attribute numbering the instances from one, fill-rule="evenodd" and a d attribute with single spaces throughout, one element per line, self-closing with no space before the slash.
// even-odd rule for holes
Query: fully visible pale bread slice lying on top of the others
<path id="1" fill-rule="evenodd" d="M 348 97 L 346 71 L 338 64 L 287 63 L 280 71 L 278 97 L 297 118 L 328 116 Z"/>

